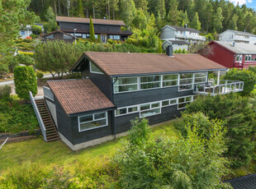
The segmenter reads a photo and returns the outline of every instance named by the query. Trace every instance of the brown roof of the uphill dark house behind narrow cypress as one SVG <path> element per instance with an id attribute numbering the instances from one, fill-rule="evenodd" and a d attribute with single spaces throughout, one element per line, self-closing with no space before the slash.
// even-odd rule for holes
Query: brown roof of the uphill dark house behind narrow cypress
<path id="1" fill-rule="evenodd" d="M 56 21 L 89 24 L 90 23 L 90 18 L 56 16 Z M 116 21 L 116 20 L 92 19 L 92 22 L 93 22 L 93 24 L 98 24 L 98 25 L 122 25 L 122 26 L 126 26 L 124 21 Z"/>

